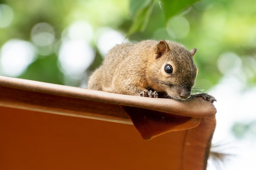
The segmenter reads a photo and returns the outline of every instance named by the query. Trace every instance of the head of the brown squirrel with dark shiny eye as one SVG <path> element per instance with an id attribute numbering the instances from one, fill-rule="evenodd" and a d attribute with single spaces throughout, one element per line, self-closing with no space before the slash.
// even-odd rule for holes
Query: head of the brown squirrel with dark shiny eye
<path id="1" fill-rule="evenodd" d="M 161 40 L 153 49 L 146 78 L 151 88 L 168 97 L 184 100 L 190 97 L 198 69 L 193 62 L 197 49 Z"/>

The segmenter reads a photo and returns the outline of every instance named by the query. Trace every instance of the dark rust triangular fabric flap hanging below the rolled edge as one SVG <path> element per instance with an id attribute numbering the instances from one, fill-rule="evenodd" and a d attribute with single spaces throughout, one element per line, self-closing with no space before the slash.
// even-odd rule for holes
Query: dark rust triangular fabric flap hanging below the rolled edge
<path id="1" fill-rule="evenodd" d="M 144 108 L 129 106 L 123 106 L 123 108 L 143 139 L 152 139 L 166 132 L 194 128 L 200 124 L 201 119 Z"/>

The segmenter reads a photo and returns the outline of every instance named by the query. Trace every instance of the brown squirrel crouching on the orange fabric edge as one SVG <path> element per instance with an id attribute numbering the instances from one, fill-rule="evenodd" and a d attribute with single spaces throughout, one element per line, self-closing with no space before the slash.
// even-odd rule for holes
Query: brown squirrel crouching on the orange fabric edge
<path id="1" fill-rule="evenodd" d="M 118 44 L 89 77 L 88 89 L 177 100 L 202 97 L 213 103 L 216 99 L 207 93 L 191 95 L 198 73 L 196 51 L 169 40 Z"/>

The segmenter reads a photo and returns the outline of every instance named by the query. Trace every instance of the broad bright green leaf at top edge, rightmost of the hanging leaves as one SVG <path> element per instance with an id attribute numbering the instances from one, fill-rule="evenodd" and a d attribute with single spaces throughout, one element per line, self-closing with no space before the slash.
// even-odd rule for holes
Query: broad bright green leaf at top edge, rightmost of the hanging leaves
<path id="1" fill-rule="evenodd" d="M 199 0 L 160 0 L 160 2 L 162 2 L 161 6 L 164 10 L 166 21 L 185 7 L 188 7 L 197 1 Z"/>

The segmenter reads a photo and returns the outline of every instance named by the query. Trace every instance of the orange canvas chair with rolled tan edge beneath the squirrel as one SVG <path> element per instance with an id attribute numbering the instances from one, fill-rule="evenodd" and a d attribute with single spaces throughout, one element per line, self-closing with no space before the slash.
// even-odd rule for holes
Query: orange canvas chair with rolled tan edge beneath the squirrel
<path id="1" fill-rule="evenodd" d="M 0 76 L 0 169 L 205 170 L 215 114 L 200 98 L 137 97 Z"/>

